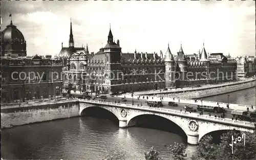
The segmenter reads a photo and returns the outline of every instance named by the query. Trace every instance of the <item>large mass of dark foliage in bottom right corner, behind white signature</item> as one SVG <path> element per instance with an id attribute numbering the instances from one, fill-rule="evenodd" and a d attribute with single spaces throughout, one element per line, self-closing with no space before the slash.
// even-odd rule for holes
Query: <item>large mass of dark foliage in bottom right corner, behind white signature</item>
<path id="1" fill-rule="evenodd" d="M 241 142 L 237 141 L 237 144 L 233 143 L 233 154 L 232 147 L 232 135 L 234 141 L 239 136 L 242 137 L 240 131 L 228 131 L 222 134 L 221 143 L 219 145 L 212 144 L 212 137 L 205 136 L 197 146 L 197 152 L 191 157 L 193 160 L 197 159 L 219 159 L 219 160 L 239 160 L 239 159 L 255 159 L 256 156 L 256 136 L 255 132 L 245 132 L 245 146 L 244 140 Z"/>

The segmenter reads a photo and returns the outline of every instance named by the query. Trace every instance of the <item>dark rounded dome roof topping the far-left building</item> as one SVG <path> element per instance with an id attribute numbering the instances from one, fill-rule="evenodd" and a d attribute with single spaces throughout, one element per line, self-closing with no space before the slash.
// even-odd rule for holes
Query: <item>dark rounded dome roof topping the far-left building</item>
<path id="1" fill-rule="evenodd" d="M 11 24 L 7 26 L 7 28 L 2 32 L 1 41 L 2 42 L 10 42 L 13 39 L 19 39 L 20 41 L 25 41 L 22 32 L 20 32 L 16 26 Z"/>

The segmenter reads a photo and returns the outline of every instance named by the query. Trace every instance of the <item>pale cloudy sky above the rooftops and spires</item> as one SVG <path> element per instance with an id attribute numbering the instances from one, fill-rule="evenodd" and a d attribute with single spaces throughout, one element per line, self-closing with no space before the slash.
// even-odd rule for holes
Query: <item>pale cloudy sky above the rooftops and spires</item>
<path id="1" fill-rule="evenodd" d="M 104 47 L 111 30 L 123 53 L 175 55 L 202 51 L 255 55 L 255 1 L 1 1 L 3 31 L 17 26 L 27 55 L 57 55 L 68 47 L 70 18 L 75 47 Z"/>

